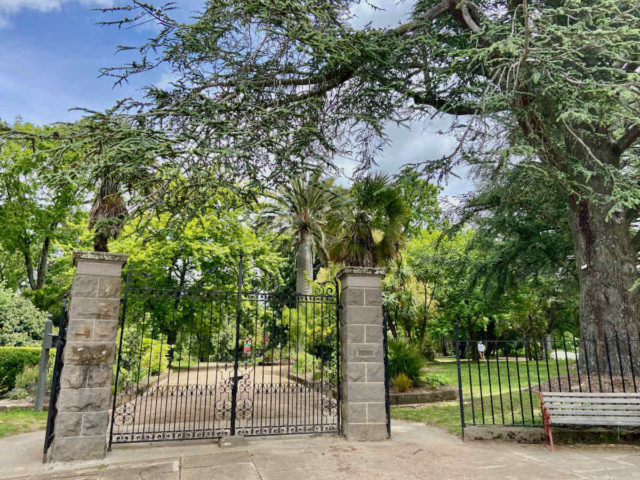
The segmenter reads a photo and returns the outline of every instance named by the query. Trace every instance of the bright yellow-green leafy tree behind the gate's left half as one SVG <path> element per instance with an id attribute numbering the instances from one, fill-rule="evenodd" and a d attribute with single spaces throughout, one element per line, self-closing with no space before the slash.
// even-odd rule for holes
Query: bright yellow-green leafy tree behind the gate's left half
<path id="1" fill-rule="evenodd" d="M 181 343 L 181 331 L 198 331 L 198 344 L 193 351 L 201 355 L 210 353 L 212 348 L 232 348 L 234 330 L 229 327 L 228 317 L 223 316 L 235 312 L 237 297 L 233 292 L 238 288 L 241 255 L 245 288 L 264 289 L 261 277 L 266 274 L 279 280 L 283 259 L 273 249 L 273 236 L 252 228 L 249 217 L 256 211 L 238 203 L 231 192 L 218 192 L 206 208 L 201 208 L 197 218 L 174 223 L 168 214 L 152 216 L 145 219 L 142 232 L 130 222 L 125 224 L 122 235 L 111 242 L 118 251 L 132 252 L 127 272 L 130 285 L 170 292 L 164 298 L 156 297 L 154 302 L 134 293 L 128 299 L 128 312 L 131 318 L 137 318 L 139 312 L 152 311 L 152 325 L 146 328 L 149 334 L 166 336 L 171 361 L 176 352 L 181 354 L 190 348 Z M 193 298 L 189 296 L 191 291 Z M 193 300 L 202 298 L 207 291 L 210 301 Z M 211 308 L 211 302 L 217 307 Z M 252 322 L 252 315 L 243 318 Z M 211 332 L 199 331 L 203 321 L 221 333 L 223 338 L 218 343 L 212 340 Z M 217 352 L 218 358 L 227 353 Z"/>

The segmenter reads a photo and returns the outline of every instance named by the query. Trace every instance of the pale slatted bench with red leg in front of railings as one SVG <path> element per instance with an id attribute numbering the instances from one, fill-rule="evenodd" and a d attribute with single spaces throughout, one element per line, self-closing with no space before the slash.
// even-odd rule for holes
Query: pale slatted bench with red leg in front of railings
<path id="1" fill-rule="evenodd" d="M 553 451 L 552 425 L 640 426 L 640 393 L 538 392 L 545 443 Z"/>

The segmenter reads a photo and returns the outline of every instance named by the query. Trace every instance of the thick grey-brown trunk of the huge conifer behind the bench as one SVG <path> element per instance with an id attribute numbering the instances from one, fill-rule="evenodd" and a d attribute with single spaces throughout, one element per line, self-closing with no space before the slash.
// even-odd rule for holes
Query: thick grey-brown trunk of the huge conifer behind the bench
<path id="1" fill-rule="evenodd" d="M 611 151 L 596 152 L 603 163 L 615 164 Z M 585 161 L 585 164 L 591 163 Z M 597 171 L 595 168 L 593 171 Z M 569 198 L 570 230 L 573 237 L 576 268 L 580 284 L 580 337 L 588 346 L 590 368 L 625 374 L 630 370 L 627 332 L 634 346 L 634 364 L 638 365 L 638 313 L 640 291 L 633 285 L 638 279 L 637 254 L 631 239 L 631 212 L 612 212 L 611 188 L 599 174 L 588 181 L 588 198 Z M 620 340 L 616 342 L 616 335 Z M 606 341 L 606 342 L 605 342 Z M 622 348 L 620 348 L 622 347 Z M 618 356 L 621 350 L 621 357 Z M 596 355 L 598 358 L 596 358 Z M 586 359 L 583 358 L 583 361 Z M 596 366 L 596 361 L 599 366 Z M 640 370 L 636 370 L 640 371 Z M 630 372 L 629 372 L 630 373 Z"/>

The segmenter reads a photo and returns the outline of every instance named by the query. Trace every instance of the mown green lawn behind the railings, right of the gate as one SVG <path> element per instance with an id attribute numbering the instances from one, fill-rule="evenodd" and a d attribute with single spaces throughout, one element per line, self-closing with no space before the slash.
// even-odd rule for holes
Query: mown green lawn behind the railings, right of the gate
<path id="1" fill-rule="evenodd" d="M 518 362 L 509 358 L 495 358 L 489 363 L 461 363 L 462 398 L 464 400 L 465 421 L 467 424 L 540 424 L 540 402 L 536 393 L 524 390 L 531 386 L 544 384 L 554 377 L 566 375 L 567 363 L 555 360 L 547 364 L 535 361 L 528 364 L 523 359 Z M 568 361 L 569 371 L 575 368 L 575 361 Z M 444 359 L 427 365 L 426 370 L 438 373 L 447 379 L 450 385 L 458 385 L 458 371 L 455 360 Z M 491 380 L 491 381 L 489 381 Z M 544 386 L 543 386 L 544 389 Z M 473 392 L 473 404 L 471 402 Z M 493 412 L 493 413 L 492 413 Z M 461 434 L 460 403 L 440 402 L 420 408 L 393 407 L 391 417 L 412 420 L 447 429 L 456 435 Z"/>

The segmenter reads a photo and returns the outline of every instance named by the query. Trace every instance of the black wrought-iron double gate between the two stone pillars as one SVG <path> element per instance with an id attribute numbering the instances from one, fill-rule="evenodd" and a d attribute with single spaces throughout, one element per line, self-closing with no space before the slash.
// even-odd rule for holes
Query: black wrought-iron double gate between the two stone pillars
<path id="1" fill-rule="evenodd" d="M 337 284 L 267 285 L 242 260 L 182 289 L 128 274 L 109 445 L 339 431 Z"/>

